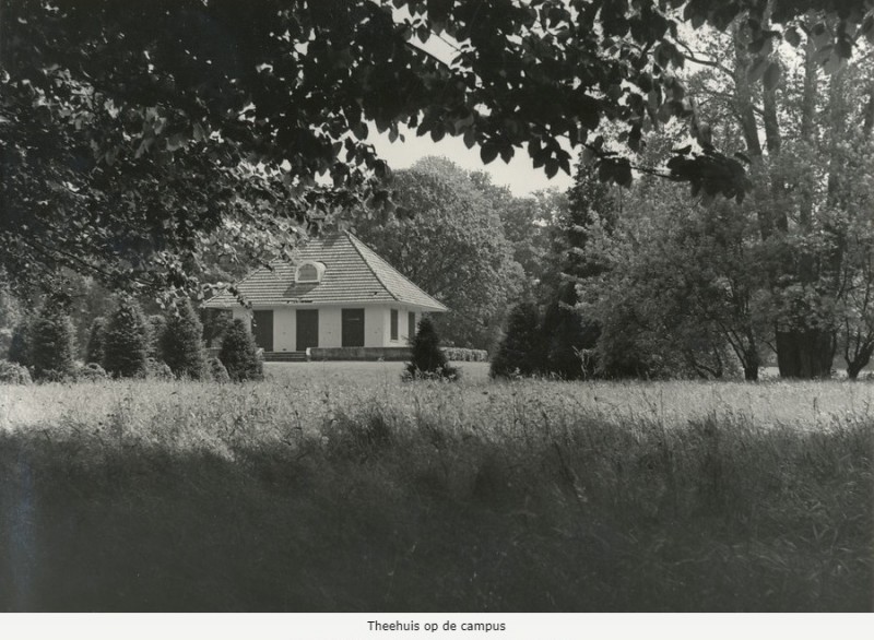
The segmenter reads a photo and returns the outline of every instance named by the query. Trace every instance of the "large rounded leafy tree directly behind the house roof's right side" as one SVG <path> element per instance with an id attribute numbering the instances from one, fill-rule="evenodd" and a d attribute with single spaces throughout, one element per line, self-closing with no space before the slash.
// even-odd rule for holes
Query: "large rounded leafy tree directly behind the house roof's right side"
<path id="1" fill-rule="evenodd" d="M 449 308 L 434 320 L 448 344 L 489 349 L 522 280 L 498 206 L 470 174 L 445 158 L 423 158 L 398 171 L 392 187 L 409 216 L 363 213 L 355 230 Z"/>

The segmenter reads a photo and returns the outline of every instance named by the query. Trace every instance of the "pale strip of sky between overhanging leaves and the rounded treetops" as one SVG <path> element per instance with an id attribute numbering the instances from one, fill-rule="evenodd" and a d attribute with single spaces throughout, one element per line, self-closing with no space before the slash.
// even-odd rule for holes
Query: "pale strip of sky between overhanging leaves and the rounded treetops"
<path id="1" fill-rule="evenodd" d="M 480 159 L 480 147 L 468 149 L 461 138 L 447 135 L 440 142 L 434 142 L 429 137 L 416 138 L 414 131 L 405 131 L 405 142 L 400 139 L 389 141 L 388 133 L 371 133 L 368 142 L 375 147 L 379 157 L 389 163 L 392 169 L 404 169 L 417 159 L 428 155 L 448 157 L 457 165 L 470 171 L 484 170 L 492 176 L 492 181 L 498 186 L 506 186 L 513 195 L 528 195 L 540 189 L 557 188 L 562 191 L 568 189 L 574 180 L 564 171 L 548 179 L 543 167 L 535 169 L 531 164 L 531 156 L 524 149 L 517 149 L 516 155 L 509 164 L 499 157 L 484 165 Z M 574 167 L 575 163 L 571 163 Z"/>

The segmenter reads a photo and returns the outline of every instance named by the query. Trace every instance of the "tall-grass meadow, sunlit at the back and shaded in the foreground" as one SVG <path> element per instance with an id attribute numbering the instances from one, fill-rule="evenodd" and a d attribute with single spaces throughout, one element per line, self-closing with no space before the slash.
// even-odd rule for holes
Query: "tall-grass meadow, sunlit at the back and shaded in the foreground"
<path id="1" fill-rule="evenodd" d="M 0 611 L 874 608 L 870 382 L 0 387 Z"/>

